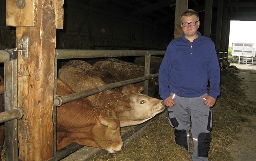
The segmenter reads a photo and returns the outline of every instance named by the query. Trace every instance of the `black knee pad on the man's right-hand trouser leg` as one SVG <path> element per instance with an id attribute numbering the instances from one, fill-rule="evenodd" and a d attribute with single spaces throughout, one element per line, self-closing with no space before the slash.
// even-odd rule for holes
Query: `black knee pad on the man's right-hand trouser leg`
<path id="1" fill-rule="evenodd" d="M 208 157 L 211 141 L 212 137 L 210 133 L 200 133 L 198 135 L 198 157 Z"/>

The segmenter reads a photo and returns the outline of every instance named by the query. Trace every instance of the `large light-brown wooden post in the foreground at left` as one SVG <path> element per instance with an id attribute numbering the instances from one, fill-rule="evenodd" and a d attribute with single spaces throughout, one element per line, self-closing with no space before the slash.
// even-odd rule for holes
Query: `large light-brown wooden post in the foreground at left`
<path id="1" fill-rule="evenodd" d="M 56 25 L 63 26 L 63 3 L 24 0 L 18 8 L 16 0 L 6 0 L 6 24 L 16 26 L 16 44 L 23 36 L 29 39 L 28 58 L 18 54 L 17 62 L 17 104 L 24 111 L 18 120 L 18 158 L 23 161 L 53 159 Z"/>

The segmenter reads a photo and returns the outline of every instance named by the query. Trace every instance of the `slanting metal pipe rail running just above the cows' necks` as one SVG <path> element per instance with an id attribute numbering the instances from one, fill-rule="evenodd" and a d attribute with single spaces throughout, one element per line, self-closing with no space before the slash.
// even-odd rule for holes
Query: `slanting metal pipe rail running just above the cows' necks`
<path id="1" fill-rule="evenodd" d="M 150 75 L 144 76 L 144 77 L 134 78 L 134 79 L 125 80 L 125 81 L 119 81 L 119 82 L 116 82 L 116 83 L 110 83 L 110 84 L 107 84 L 107 85 L 102 85 L 100 87 L 87 89 L 85 91 L 79 91 L 79 92 L 72 93 L 72 94 L 65 95 L 65 96 L 55 96 L 54 100 L 53 100 L 53 103 L 56 106 L 60 106 L 64 103 L 68 103 L 68 102 L 74 101 L 76 99 L 80 99 L 80 98 L 84 98 L 84 97 L 87 97 L 87 96 L 90 96 L 90 95 L 94 95 L 96 93 L 100 93 L 100 92 L 108 90 L 108 89 L 113 89 L 113 88 L 121 87 L 121 86 L 124 86 L 124 85 L 132 84 L 132 83 L 138 83 L 140 81 L 153 79 L 155 77 L 158 77 L 158 74 L 150 74 Z"/>

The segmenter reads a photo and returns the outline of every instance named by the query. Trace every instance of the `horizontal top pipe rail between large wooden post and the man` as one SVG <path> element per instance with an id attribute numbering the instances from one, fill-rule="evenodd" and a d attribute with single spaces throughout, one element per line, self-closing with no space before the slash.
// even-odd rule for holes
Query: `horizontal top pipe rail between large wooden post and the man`
<path id="1" fill-rule="evenodd" d="M 161 50 L 67 50 L 56 49 L 57 59 L 164 55 Z"/>

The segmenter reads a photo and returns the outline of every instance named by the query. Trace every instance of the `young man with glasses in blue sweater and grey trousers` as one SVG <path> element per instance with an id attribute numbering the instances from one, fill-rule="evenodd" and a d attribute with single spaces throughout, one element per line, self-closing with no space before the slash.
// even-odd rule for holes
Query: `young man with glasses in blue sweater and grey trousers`
<path id="1" fill-rule="evenodd" d="M 192 123 L 192 160 L 207 161 L 212 129 L 210 107 L 220 95 L 220 67 L 214 43 L 197 31 L 200 21 L 196 11 L 186 10 L 180 25 L 182 37 L 170 42 L 160 66 L 159 94 L 168 107 L 176 143 L 190 153 Z"/>

